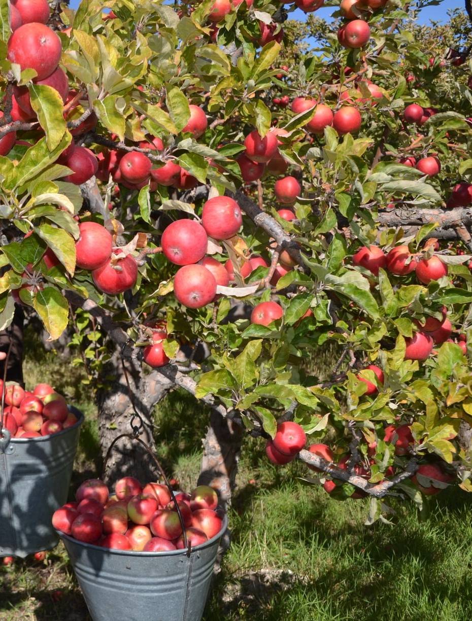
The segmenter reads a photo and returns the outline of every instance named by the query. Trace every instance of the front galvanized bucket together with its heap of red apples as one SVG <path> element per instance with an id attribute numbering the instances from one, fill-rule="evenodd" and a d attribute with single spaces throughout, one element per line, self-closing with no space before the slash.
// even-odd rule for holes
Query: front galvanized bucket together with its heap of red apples
<path id="1" fill-rule="evenodd" d="M 85 481 L 52 518 L 92 619 L 200 621 L 227 528 L 216 491 L 172 495 L 133 477 L 113 491 Z"/>

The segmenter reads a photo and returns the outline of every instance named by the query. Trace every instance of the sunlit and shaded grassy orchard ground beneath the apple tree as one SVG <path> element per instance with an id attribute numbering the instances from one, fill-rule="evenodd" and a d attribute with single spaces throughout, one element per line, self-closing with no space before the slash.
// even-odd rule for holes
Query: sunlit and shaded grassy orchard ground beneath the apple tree
<path id="1" fill-rule="evenodd" d="M 32 333 L 28 385 L 47 381 L 86 414 L 71 491 L 100 464 L 96 408 L 81 371 L 43 353 Z M 40 360 L 40 363 L 37 361 Z M 64 373 L 67 369 L 67 373 Z M 189 412 L 193 415 L 189 416 Z M 189 424 L 178 422 L 183 416 Z M 155 413 L 158 454 L 181 486 L 194 485 L 207 412 L 173 392 Z M 179 432 L 176 432 L 179 430 Z M 337 502 L 307 486 L 306 467 L 271 466 L 262 440 L 245 440 L 230 511 L 232 545 L 204 621 L 462 621 L 472 617 L 470 495 L 458 488 L 431 499 L 429 515 L 395 504 L 394 527 L 363 522 L 368 501 Z M 1 621 L 89 621 L 62 545 L 45 561 L 0 566 Z"/>

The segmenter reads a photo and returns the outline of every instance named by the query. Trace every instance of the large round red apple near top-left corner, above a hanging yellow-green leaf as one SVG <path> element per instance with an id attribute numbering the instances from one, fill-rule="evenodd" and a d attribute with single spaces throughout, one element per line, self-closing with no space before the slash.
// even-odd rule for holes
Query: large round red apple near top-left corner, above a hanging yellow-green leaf
<path id="1" fill-rule="evenodd" d="M 22 71 L 34 69 L 37 79 L 51 75 L 61 58 L 61 40 L 44 24 L 24 24 L 8 40 L 7 58 Z"/>

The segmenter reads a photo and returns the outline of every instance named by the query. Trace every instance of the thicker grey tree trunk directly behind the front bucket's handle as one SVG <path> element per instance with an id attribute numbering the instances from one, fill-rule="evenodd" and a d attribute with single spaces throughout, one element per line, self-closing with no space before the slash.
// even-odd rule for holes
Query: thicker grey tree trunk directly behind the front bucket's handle
<path id="1" fill-rule="evenodd" d="M 153 406 L 166 395 L 173 384 L 160 374 L 143 374 L 140 363 L 135 360 L 126 360 L 125 365 L 134 404 L 143 421 L 139 437 L 151 450 L 155 450 L 152 435 Z M 122 433 L 132 433 L 130 421 L 134 415 L 122 363 L 117 353 L 104 369 L 103 378 L 110 377 L 113 378 L 112 381 L 106 383 L 105 380 L 106 388 L 99 389 L 97 394 L 103 458 L 114 438 Z M 139 424 L 139 419 L 135 417 L 134 425 Z M 122 438 L 114 446 L 103 476 L 112 485 L 123 476 L 134 476 L 140 481 L 155 481 L 158 473 L 152 459 L 138 442 Z"/>

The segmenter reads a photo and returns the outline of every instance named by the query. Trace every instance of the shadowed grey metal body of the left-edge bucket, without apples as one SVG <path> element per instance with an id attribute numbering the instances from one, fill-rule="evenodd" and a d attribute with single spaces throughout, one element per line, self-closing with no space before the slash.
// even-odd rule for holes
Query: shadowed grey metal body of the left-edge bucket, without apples
<path id="1" fill-rule="evenodd" d="M 57 546 L 52 514 L 67 501 L 79 427 L 40 438 L 0 438 L 0 556 L 25 557 Z"/>

